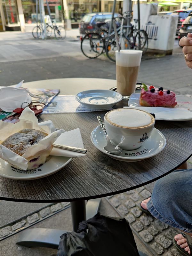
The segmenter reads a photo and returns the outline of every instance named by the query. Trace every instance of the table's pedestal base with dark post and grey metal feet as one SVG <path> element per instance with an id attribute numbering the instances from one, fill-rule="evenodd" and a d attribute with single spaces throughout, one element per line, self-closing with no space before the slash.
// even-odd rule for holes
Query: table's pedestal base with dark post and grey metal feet
<path id="1" fill-rule="evenodd" d="M 71 215 L 74 231 L 77 230 L 80 221 L 88 220 L 98 212 L 100 202 L 100 198 L 89 200 L 86 204 L 86 208 L 84 200 L 71 202 Z M 68 231 L 60 229 L 31 228 L 22 231 L 16 244 L 26 247 L 40 246 L 58 249 L 60 236 L 66 232 Z"/>

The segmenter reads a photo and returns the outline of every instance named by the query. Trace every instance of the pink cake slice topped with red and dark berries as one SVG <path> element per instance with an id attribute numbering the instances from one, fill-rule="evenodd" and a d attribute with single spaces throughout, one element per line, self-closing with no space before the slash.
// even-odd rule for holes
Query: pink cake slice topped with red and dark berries
<path id="1" fill-rule="evenodd" d="M 177 105 L 175 93 L 143 84 L 140 93 L 140 105 L 147 107 L 175 107 Z"/>

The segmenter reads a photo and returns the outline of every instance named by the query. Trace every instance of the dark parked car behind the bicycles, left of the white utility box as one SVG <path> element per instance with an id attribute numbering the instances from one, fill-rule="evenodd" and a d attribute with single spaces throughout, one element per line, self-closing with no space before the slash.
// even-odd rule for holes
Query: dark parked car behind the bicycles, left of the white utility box
<path id="1" fill-rule="evenodd" d="M 121 17 L 121 15 L 118 13 L 114 14 L 114 18 L 116 19 L 117 28 L 121 25 L 120 17 Z M 111 20 L 111 18 L 112 18 L 111 12 L 98 12 L 98 13 L 86 14 L 79 23 L 80 34 L 84 35 L 89 32 L 90 33 L 95 32 L 98 29 L 97 24 L 104 23 L 104 22 L 106 22 L 105 28 L 108 30 L 109 26 L 110 26 L 109 20 Z"/>

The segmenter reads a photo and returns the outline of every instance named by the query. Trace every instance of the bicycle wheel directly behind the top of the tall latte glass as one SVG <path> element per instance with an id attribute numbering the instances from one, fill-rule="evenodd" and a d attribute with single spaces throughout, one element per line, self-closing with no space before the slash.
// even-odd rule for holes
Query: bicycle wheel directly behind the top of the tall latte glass
<path id="1" fill-rule="evenodd" d="M 118 40 L 119 40 L 119 36 L 118 36 Z M 120 49 L 131 49 L 131 45 L 127 37 L 122 36 L 122 41 L 121 43 L 119 42 L 119 47 Z M 115 36 L 113 35 L 108 39 L 105 46 L 105 51 L 109 60 L 112 60 L 115 62 L 116 50 L 117 50 L 116 39 L 115 39 Z"/>

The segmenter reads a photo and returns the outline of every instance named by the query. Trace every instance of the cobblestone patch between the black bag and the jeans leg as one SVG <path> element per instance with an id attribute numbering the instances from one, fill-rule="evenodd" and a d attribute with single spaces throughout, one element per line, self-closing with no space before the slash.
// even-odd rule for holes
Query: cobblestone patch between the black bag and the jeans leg
<path id="1" fill-rule="evenodd" d="M 140 202 L 151 196 L 154 183 L 115 195 L 109 199 L 117 211 L 129 221 L 131 228 L 153 255 L 180 256 L 173 245 L 174 229 L 140 210 Z"/>

